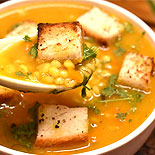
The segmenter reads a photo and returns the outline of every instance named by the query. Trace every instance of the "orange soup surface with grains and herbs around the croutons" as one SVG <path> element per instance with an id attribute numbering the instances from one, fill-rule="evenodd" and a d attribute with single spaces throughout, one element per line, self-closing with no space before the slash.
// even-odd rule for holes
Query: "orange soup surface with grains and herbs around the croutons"
<path id="1" fill-rule="evenodd" d="M 37 23 L 59 23 L 76 21 L 76 19 L 91 9 L 92 6 L 75 3 L 50 3 L 31 4 L 15 8 L 0 14 L 0 36 L 4 38 L 12 25 L 21 21 L 33 20 Z M 104 9 L 104 8 L 103 8 Z M 98 149 L 112 144 L 130 134 L 140 126 L 155 108 L 155 79 L 151 78 L 151 89 L 149 92 L 135 90 L 129 87 L 123 88 L 130 99 L 118 98 L 117 95 L 103 98 L 103 89 L 108 87 L 109 80 L 117 79 L 124 57 L 128 52 L 137 52 L 146 56 L 155 57 L 155 49 L 151 46 L 145 32 L 141 32 L 130 22 L 120 19 L 124 23 L 125 31 L 118 39 L 108 46 L 98 44 L 93 38 L 85 37 L 84 41 L 89 46 L 95 46 L 99 50 L 95 61 L 98 65 L 88 82 L 90 90 L 86 90 L 86 96 L 81 97 L 81 87 L 62 94 L 32 94 L 16 93 L 11 99 L 1 97 L 0 105 L 0 144 L 14 150 L 29 153 L 69 154 L 80 153 Z M 15 73 L 19 71 L 18 63 L 31 67 L 28 72 L 38 65 L 28 52 L 35 43 L 22 42 L 0 53 L 0 74 L 21 79 Z M 118 53 L 118 48 L 124 49 Z M 12 65 L 14 64 L 14 65 Z M 13 71 L 11 67 L 13 66 Z M 74 77 L 75 78 L 75 77 Z M 80 75 L 79 75 L 79 78 Z M 78 79 L 79 79 L 78 78 Z M 25 77 L 22 77 L 25 80 Z M 29 79 L 26 79 L 29 80 Z M 134 98 L 136 94 L 137 100 Z M 35 134 L 30 143 L 21 142 L 12 134 L 13 124 L 26 124 L 32 118 L 28 109 L 39 102 L 39 104 L 59 104 L 68 107 L 86 106 L 89 108 L 89 141 L 82 146 L 70 146 L 68 148 L 39 149 L 33 147 Z M 31 147 L 29 147 L 30 145 Z"/>

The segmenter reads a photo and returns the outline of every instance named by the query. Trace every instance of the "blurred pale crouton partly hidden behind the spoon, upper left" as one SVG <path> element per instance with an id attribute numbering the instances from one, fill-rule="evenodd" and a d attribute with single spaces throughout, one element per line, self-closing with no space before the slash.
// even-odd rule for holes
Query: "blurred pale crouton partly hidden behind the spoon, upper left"
<path id="1" fill-rule="evenodd" d="M 25 36 L 30 34 L 37 34 L 37 24 L 33 21 L 24 21 L 9 32 L 6 37 Z"/>

